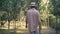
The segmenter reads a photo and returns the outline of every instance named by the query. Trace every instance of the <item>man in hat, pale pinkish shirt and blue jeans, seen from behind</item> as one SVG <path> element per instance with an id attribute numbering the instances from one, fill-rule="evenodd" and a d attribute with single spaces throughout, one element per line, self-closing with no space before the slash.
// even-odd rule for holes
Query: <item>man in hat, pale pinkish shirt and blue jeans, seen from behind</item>
<path id="1" fill-rule="evenodd" d="M 31 2 L 30 7 L 26 14 L 26 27 L 28 24 L 30 34 L 37 34 L 37 26 L 40 25 L 39 11 L 36 10 L 35 2 Z"/>

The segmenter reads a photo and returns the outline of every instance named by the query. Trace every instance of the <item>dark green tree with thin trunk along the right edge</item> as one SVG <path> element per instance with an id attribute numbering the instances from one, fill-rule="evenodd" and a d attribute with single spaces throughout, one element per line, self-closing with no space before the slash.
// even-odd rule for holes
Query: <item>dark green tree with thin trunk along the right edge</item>
<path id="1" fill-rule="evenodd" d="M 60 0 L 51 0 L 51 3 L 53 5 L 53 10 L 51 13 L 56 16 L 56 23 L 55 23 L 55 28 L 56 29 L 56 34 L 57 34 L 57 29 L 59 28 L 58 25 L 58 18 L 60 17 Z"/>

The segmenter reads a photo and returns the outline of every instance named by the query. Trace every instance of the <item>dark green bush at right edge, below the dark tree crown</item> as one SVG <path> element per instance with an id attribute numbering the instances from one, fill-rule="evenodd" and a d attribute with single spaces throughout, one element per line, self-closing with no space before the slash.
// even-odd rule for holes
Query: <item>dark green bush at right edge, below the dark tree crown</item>
<path id="1" fill-rule="evenodd" d="M 56 22 L 56 18 L 50 16 L 49 17 L 49 20 L 50 20 L 50 27 L 55 29 L 55 30 L 60 30 L 60 19 L 57 19 L 57 22 Z"/>

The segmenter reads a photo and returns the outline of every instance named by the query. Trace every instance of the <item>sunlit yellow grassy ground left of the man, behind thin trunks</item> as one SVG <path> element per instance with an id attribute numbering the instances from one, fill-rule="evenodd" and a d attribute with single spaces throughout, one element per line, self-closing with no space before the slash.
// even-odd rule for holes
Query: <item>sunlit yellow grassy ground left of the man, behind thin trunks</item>
<path id="1" fill-rule="evenodd" d="M 14 29 L 14 24 L 12 21 L 10 23 L 10 34 L 23 34 L 27 33 L 27 29 L 24 27 L 25 23 L 16 23 L 16 29 Z M 0 26 L 0 34 L 8 34 L 8 23 L 5 23 L 4 26 Z"/>

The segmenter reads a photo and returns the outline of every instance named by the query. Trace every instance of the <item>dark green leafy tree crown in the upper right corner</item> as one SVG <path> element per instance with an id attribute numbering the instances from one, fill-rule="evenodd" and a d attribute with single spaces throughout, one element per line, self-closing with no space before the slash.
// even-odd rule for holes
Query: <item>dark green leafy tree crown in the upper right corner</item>
<path id="1" fill-rule="evenodd" d="M 55 16 L 60 16 L 60 3 L 57 1 L 52 1 L 52 5 L 54 6 L 52 14 Z"/>

